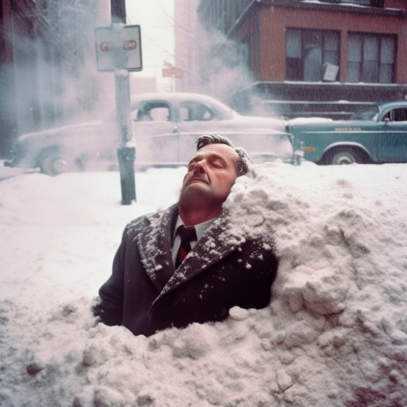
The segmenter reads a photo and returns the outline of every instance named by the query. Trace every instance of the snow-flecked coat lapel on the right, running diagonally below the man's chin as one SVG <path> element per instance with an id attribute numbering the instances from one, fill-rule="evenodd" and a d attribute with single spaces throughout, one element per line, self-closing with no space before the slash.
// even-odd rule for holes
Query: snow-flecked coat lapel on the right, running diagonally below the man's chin
<path id="1" fill-rule="evenodd" d="M 185 284 L 208 267 L 214 265 L 237 249 L 246 239 L 230 228 L 230 215 L 224 210 L 219 218 L 207 229 L 195 247 L 188 253 L 181 266 L 171 275 L 167 284 L 154 303 L 163 295 Z M 171 263 L 172 265 L 172 263 Z M 153 303 L 153 305 L 154 305 Z"/>

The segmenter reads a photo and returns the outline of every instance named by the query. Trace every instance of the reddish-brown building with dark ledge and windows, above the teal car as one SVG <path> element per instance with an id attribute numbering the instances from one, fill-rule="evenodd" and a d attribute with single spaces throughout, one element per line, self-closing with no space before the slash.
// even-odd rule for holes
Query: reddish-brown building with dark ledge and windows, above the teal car
<path id="1" fill-rule="evenodd" d="M 407 98 L 407 0 L 201 0 L 198 13 L 248 50 L 254 81 L 229 100 L 241 111 L 253 95 L 316 109 Z"/>

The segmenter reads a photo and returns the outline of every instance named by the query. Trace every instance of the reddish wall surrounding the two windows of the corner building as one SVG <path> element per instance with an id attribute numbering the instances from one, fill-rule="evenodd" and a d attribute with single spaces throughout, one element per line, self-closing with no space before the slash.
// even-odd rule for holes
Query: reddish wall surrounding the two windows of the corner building
<path id="1" fill-rule="evenodd" d="M 407 19 L 400 16 L 369 15 L 323 10 L 289 9 L 273 6 L 258 8 L 247 22 L 259 26 L 261 67 L 253 72 L 262 81 L 285 80 L 285 29 L 287 27 L 336 30 L 340 32 L 339 80 L 346 81 L 347 32 L 397 35 L 396 83 L 407 83 Z"/>

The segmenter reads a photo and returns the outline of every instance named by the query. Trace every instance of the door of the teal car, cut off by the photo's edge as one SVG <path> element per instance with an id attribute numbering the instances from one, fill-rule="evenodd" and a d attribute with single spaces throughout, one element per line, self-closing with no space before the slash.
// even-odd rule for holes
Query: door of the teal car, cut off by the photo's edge
<path id="1" fill-rule="evenodd" d="M 407 108 L 385 112 L 377 161 L 407 162 Z"/>

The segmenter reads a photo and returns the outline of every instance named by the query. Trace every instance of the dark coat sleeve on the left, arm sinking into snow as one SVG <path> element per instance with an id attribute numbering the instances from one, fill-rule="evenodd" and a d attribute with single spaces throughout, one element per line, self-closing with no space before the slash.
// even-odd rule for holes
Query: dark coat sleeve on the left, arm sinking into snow
<path id="1" fill-rule="evenodd" d="M 99 304 L 93 307 L 93 314 L 105 325 L 122 325 L 124 301 L 124 263 L 128 241 L 126 226 L 122 242 L 113 259 L 112 274 L 99 289 Z"/>

